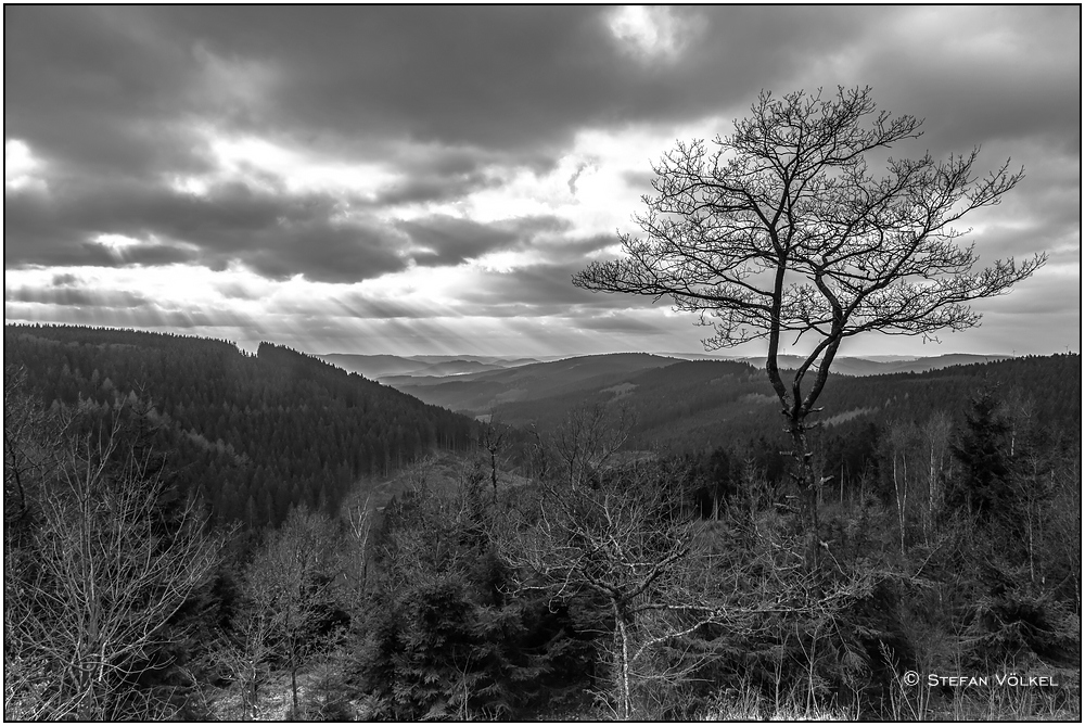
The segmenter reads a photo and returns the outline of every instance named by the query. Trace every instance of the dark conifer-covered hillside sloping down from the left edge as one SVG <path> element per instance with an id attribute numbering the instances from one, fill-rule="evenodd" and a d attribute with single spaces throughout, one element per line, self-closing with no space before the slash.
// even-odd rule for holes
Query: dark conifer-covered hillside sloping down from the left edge
<path id="1" fill-rule="evenodd" d="M 334 508 L 361 476 L 433 447 L 468 445 L 472 422 L 290 348 L 135 330 L 4 326 L 5 378 L 24 367 L 46 406 L 145 423 L 181 487 L 220 521 L 278 523 L 291 505 Z"/>

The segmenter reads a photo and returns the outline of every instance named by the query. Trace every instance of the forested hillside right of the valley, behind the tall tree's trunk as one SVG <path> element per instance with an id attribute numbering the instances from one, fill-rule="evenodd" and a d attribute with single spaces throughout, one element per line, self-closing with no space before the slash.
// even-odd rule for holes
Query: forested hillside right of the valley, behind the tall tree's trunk
<path id="1" fill-rule="evenodd" d="M 818 400 L 828 438 L 857 435 L 871 424 L 921 423 L 934 411 L 958 422 L 970 400 L 990 387 L 997 398 L 1026 409 L 1035 423 L 1081 434 L 1081 356 L 1029 356 L 952 366 L 922 373 L 852 377 L 830 374 Z M 787 378 L 787 377 L 786 377 Z M 780 448 L 783 423 L 780 405 L 764 370 L 727 360 L 676 362 L 626 375 L 605 387 L 577 390 L 559 396 L 508 403 L 497 409 L 512 425 L 556 424 L 579 403 L 622 407 L 637 424 L 630 444 L 673 450 L 704 450 L 764 440 Z"/>

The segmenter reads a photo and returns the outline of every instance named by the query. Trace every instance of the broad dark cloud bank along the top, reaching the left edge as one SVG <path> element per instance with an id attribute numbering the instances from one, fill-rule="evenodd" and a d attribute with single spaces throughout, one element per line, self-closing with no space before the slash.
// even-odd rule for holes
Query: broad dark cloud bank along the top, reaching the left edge
<path id="1" fill-rule="evenodd" d="M 546 165 L 585 125 L 742 102 L 872 20 L 830 8 L 676 9 L 695 28 L 689 47 L 677 62 L 644 64 L 622 52 L 610 12 L 17 8 L 5 23 L 5 133 L 72 164 L 130 173 L 205 166 L 181 124 L 193 118 L 332 153 L 379 154 L 400 138 Z M 207 87 L 224 73 L 235 92 Z M 259 99 L 247 98 L 243 87 L 258 81 Z"/>

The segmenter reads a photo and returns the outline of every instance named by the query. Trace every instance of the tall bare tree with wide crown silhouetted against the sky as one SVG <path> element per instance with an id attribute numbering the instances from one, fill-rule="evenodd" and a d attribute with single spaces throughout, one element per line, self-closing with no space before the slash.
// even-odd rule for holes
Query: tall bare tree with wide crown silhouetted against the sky
<path id="1" fill-rule="evenodd" d="M 865 154 L 920 136 L 921 120 L 877 111 L 869 88 L 762 92 L 735 133 L 714 151 L 679 142 L 653 168 L 656 194 L 635 216 L 643 238 L 622 234 L 625 257 L 595 262 L 580 288 L 671 297 L 715 333 L 705 347 L 768 340 L 766 370 L 783 406 L 812 534 L 816 486 L 806 418 L 843 341 L 878 331 L 936 340 L 940 330 L 979 323 L 970 301 L 999 295 L 1031 276 L 1045 255 L 996 260 L 973 271 L 974 245 L 953 227 L 998 204 L 1023 178 L 1000 168 L 981 176 L 979 150 L 935 161 L 890 158 L 876 178 Z M 781 336 L 813 339 L 790 385 Z M 804 389 L 807 373 L 813 380 Z M 815 547 L 814 551 L 817 551 Z"/>

